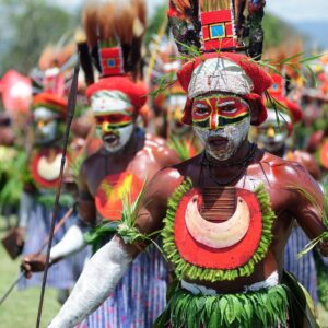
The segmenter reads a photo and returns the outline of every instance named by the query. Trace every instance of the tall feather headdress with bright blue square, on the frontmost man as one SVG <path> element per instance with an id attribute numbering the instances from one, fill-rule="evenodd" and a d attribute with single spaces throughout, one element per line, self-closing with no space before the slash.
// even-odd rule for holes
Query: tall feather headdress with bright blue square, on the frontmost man
<path id="1" fill-rule="evenodd" d="M 265 0 L 171 0 L 168 17 L 180 52 L 262 51 Z"/>

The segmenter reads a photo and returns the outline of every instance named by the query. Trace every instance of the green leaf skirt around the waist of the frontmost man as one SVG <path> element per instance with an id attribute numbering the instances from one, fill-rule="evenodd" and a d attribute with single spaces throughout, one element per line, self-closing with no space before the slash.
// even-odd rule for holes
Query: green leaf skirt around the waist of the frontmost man
<path id="1" fill-rule="evenodd" d="M 286 324 L 288 294 L 283 285 L 225 295 L 192 295 L 177 289 L 154 327 L 251 328 Z"/>

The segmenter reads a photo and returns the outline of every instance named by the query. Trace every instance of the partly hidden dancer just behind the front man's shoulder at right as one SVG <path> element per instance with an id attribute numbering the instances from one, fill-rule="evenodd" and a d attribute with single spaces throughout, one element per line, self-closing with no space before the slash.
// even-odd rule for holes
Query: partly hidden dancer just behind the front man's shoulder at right
<path id="1" fill-rule="evenodd" d="M 267 120 L 257 127 L 258 142 L 265 151 L 288 161 L 300 163 L 314 179 L 319 181 L 320 169 L 315 157 L 305 151 L 288 149 L 288 139 L 292 136 L 294 125 L 302 118 L 302 109 L 285 97 L 284 79 L 279 74 L 272 74 L 271 77 L 273 84 L 269 89 L 269 94 L 274 99 L 276 109 L 268 108 Z M 295 274 L 311 294 L 314 303 L 317 304 L 317 276 L 314 255 L 309 251 L 297 259 L 298 253 L 308 243 L 309 241 L 303 230 L 295 225 L 285 248 L 284 269 Z"/>

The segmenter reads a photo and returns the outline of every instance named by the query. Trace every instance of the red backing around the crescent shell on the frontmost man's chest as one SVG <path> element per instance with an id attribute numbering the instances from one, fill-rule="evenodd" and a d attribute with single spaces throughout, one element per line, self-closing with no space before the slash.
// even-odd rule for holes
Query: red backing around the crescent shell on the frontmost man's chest
<path id="1" fill-rule="evenodd" d="M 175 215 L 174 237 L 181 258 L 197 267 L 218 270 L 236 269 L 247 263 L 258 249 L 262 234 L 262 215 L 256 196 L 248 190 L 236 189 L 236 196 L 242 197 L 249 207 L 248 232 L 236 245 L 215 249 L 195 241 L 186 226 L 187 203 L 199 191 L 192 189 L 183 197 Z"/>

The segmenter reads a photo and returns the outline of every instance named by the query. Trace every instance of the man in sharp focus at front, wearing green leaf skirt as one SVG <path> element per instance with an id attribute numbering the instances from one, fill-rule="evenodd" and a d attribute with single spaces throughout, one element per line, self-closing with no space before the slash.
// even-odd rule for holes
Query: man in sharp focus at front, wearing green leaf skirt
<path id="1" fill-rule="evenodd" d="M 323 194 L 302 166 L 248 141 L 250 125 L 267 117 L 262 94 L 272 80 L 236 52 L 233 27 L 245 22 L 243 4 L 171 3 L 180 50 L 196 54 L 178 72 L 188 93 L 184 122 L 192 125 L 204 150 L 155 175 L 131 225 L 145 235 L 163 229 L 164 253 L 177 277 L 155 327 L 316 326 L 302 312 L 305 292 L 283 271 L 283 251 L 297 220 L 309 238 L 321 236 L 319 247 L 328 256 Z M 263 2 L 249 1 L 253 56 L 261 48 L 262 10 Z M 142 245 L 121 233 L 101 248 L 49 327 L 73 327 L 102 304 Z"/>

